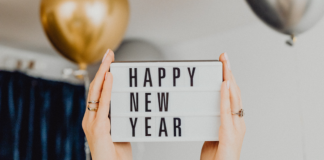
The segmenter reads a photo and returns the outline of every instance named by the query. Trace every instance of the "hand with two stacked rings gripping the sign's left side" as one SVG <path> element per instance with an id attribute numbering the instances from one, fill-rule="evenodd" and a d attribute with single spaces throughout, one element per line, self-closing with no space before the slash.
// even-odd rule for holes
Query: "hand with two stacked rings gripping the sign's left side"
<path id="1" fill-rule="evenodd" d="M 110 136 L 108 114 L 113 76 L 108 71 L 113 61 L 114 53 L 108 50 L 94 80 L 90 84 L 87 98 L 87 102 L 99 100 L 99 103 L 87 106 L 82 121 L 82 128 L 87 137 L 92 159 L 94 160 L 132 159 L 130 143 L 113 143 Z M 97 111 L 89 111 L 88 107 L 98 109 Z"/>

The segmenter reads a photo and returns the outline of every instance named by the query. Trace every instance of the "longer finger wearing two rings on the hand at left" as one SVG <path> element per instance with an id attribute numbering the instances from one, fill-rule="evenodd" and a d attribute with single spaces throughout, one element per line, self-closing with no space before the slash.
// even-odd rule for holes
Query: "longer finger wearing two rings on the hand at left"
<path id="1" fill-rule="evenodd" d="M 114 61 L 114 53 L 110 49 L 107 50 L 102 63 L 99 67 L 98 72 L 96 73 L 95 78 L 91 82 L 89 88 L 88 101 L 98 101 L 100 99 L 102 85 L 105 78 L 105 73 L 109 70 L 111 62 Z M 97 104 L 89 104 L 89 107 L 98 107 Z M 92 122 L 96 116 L 95 111 L 86 111 L 88 114 L 88 122 Z"/>

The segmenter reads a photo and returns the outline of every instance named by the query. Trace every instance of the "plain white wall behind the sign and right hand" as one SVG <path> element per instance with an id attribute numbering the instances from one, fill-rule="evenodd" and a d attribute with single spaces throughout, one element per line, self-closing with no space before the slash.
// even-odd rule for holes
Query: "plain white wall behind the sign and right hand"
<path id="1" fill-rule="evenodd" d="M 261 22 L 160 48 L 165 59 L 218 59 L 227 52 L 242 90 L 242 160 L 324 159 L 324 21 L 294 47 Z M 135 160 L 196 160 L 203 142 L 133 143 Z"/>

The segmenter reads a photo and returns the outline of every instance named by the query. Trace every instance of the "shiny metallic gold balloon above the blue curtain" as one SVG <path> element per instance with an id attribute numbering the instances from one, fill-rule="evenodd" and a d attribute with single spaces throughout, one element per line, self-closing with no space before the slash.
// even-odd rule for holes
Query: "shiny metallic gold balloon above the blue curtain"
<path id="1" fill-rule="evenodd" d="M 80 68 L 116 49 L 125 34 L 127 0 L 42 0 L 41 22 L 48 39 Z"/>

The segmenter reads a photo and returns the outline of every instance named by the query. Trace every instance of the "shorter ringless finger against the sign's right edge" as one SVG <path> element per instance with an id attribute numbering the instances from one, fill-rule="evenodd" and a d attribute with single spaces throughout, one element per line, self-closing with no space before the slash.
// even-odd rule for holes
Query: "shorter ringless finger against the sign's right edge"
<path id="1" fill-rule="evenodd" d="M 229 127 L 233 125 L 230 103 L 230 81 L 224 81 L 221 88 L 221 125 Z"/>

